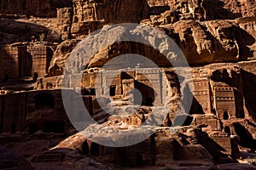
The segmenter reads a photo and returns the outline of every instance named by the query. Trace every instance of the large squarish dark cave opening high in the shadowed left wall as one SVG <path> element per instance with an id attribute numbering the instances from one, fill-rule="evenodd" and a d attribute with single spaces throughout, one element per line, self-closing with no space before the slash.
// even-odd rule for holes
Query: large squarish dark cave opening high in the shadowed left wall
<path id="1" fill-rule="evenodd" d="M 37 94 L 34 99 L 38 110 L 53 110 L 55 108 L 55 97 L 52 94 Z"/>

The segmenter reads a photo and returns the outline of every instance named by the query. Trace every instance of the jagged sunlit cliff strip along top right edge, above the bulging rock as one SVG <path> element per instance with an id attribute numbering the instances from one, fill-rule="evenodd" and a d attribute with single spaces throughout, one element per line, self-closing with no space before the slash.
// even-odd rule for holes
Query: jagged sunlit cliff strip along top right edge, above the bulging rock
<path id="1" fill-rule="evenodd" d="M 148 0 L 151 13 L 157 16 L 166 16 L 164 24 L 171 24 L 170 20 L 227 20 L 239 17 L 253 17 L 255 15 L 255 3 L 249 0 Z M 169 7 L 169 8 L 168 8 Z M 169 19 L 169 20 L 168 20 Z M 171 23 L 170 23 L 171 21 Z"/>

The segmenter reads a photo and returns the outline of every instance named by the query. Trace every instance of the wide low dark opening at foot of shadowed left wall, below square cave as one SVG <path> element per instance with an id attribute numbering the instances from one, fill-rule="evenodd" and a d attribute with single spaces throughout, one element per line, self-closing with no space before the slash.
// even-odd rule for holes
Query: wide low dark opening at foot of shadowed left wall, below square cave
<path id="1" fill-rule="evenodd" d="M 65 133 L 65 122 L 45 122 L 44 133 Z"/>

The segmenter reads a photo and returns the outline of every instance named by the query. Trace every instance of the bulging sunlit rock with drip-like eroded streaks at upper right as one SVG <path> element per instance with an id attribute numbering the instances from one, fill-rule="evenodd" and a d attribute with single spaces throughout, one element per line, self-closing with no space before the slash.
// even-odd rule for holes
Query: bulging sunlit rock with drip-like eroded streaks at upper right
<path id="1" fill-rule="evenodd" d="M 252 21 L 245 22 L 249 24 Z M 240 27 L 238 20 L 212 20 L 200 23 L 195 20 L 181 20 L 176 22 L 173 28 L 179 36 L 177 42 L 191 64 L 237 61 L 252 59 L 255 56 L 254 33 L 247 33 Z M 244 37 L 249 41 L 243 43 Z M 245 48 L 247 46 L 249 48 Z"/>

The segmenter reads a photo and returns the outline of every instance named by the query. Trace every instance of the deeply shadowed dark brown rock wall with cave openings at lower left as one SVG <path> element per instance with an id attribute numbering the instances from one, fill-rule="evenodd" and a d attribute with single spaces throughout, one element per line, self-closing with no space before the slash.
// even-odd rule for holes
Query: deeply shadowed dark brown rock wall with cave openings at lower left
<path id="1" fill-rule="evenodd" d="M 1 95 L 0 109 L 0 133 L 67 133 L 71 127 L 61 90 Z"/>

